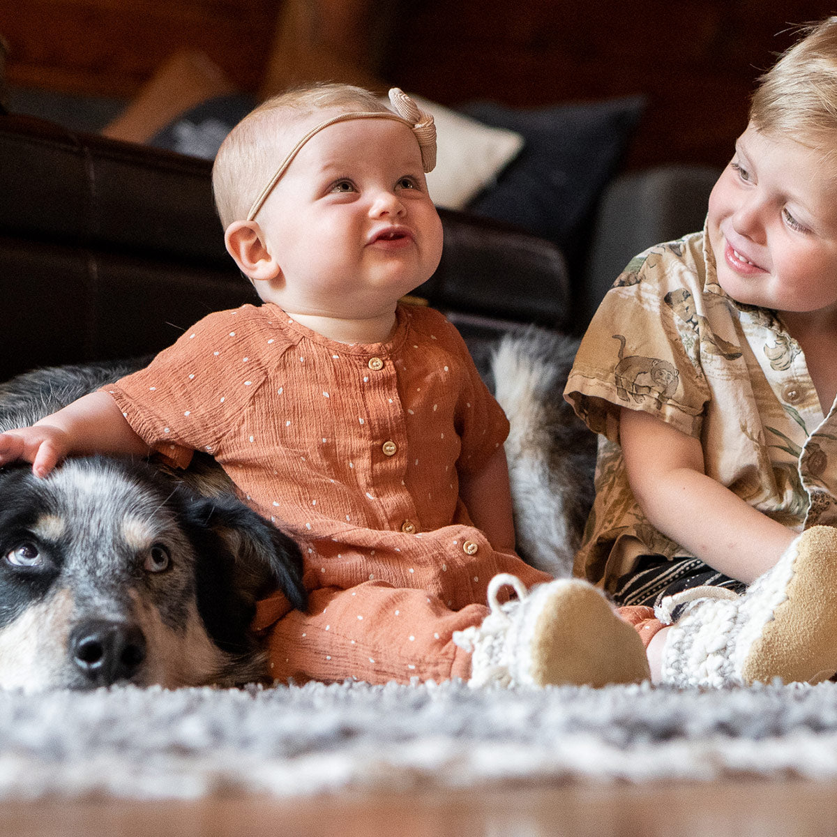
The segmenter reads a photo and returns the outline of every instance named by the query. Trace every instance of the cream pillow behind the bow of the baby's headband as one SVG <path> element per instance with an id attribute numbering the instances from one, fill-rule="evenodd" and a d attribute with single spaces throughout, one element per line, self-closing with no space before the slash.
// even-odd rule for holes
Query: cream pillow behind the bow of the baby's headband
<path id="1" fill-rule="evenodd" d="M 436 167 L 427 176 L 430 197 L 437 206 L 464 209 L 520 153 L 523 137 L 409 95 L 436 123 Z"/>

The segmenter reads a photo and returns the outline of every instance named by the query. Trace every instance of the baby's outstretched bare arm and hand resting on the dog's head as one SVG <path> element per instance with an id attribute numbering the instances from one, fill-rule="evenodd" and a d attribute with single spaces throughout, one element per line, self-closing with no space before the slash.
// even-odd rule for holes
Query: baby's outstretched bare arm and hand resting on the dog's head
<path id="1" fill-rule="evenodd" d="M 0 465 L 25 460 L 39 477 L 69 454 L 148 453 L 113 398 L 102 392 L 85 395 L 32 427 L 0 434 Z"/>

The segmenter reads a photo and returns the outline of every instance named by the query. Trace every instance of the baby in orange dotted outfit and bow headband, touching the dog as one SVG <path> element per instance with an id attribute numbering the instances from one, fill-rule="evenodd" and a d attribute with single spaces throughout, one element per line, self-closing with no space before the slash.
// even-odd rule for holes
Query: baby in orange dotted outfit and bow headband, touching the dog
<path id="1" fill-rule="evenodd" d="M 513 552 L 506 417 L 444 317 L 398 304 L 436 269 L 442 228 L 432 118 L 390 98 L 398 114 L 326 85 L 245 118 L 213 187 L 264 305 L 212 314 L 145 370 L 3 434 L 0 465 L 213 454 L 303 545 L 307 612 L 277 593 L 254 624 L 277 680 L 641 680 L 642 644 L 603 596 Z"/>

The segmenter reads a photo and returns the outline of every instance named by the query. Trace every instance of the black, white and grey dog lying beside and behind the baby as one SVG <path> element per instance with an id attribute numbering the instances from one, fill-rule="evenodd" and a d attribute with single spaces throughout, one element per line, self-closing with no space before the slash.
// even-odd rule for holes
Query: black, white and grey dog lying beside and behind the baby
<path id="1" fill-rule="evenodd" d="M 562 399 L 577 344 L 540 330 L 472 343 L 511 420 L 518 547 L 559 576 L 592 499 L 594 440 Z M 0 431 L 32 424 L 144 360 L 29 372 L 0 385 Z M 299 548 L 237 499 L 208 457 L 177 474 L 105 457 L 44 480 L 0 469 L 0 686 L 231 686 L 268 679 L 249 632 L 280 588 L 305 606 Z"/>

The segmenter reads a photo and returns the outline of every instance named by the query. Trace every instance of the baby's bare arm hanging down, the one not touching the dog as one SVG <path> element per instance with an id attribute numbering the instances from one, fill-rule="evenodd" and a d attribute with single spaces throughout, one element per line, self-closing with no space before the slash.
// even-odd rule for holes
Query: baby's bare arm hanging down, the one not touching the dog
<path id="1" fill-rule="evenodd" d="M 515 548 L 509 466 L 502 447 L 477 473 L 461 477 L 460 497 L 471 522 L 483 531 L 492 547 L 498 551 Z"/>

